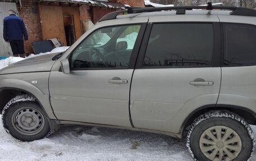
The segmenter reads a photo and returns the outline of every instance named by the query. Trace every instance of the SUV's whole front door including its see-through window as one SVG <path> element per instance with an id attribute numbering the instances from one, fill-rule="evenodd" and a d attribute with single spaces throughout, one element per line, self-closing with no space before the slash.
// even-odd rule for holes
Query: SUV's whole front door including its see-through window
<path id="1" fill-rule="evenodd" d="M 49 91 L 58 119 L 131 126 L 130 83 L 138 53 L 135 48 L 141 40 L 138 35 L 145 29 L 145 24 L 141 26 L 95 30 L 68 57 L 69 74 L 51 72 Z"/>

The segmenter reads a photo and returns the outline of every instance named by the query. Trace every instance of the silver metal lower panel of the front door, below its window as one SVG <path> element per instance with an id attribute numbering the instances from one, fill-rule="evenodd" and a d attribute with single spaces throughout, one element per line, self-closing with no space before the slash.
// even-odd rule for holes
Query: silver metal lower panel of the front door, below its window
<path id="1" fill-rule="evenodd" d="M 131 127 L 129 91 L 133 70 L 51 72 L 51 103 L 58 119 Z M 120 77 L 127 84 L 110 84 Z"/>

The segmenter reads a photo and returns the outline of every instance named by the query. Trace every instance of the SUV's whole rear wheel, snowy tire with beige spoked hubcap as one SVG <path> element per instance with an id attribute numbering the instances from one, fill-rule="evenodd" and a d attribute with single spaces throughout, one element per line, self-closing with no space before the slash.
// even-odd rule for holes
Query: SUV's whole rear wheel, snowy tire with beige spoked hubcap
<path id="1" fill-rule="evenodd" d="M 252 157 L 255 140 L 244 118 L 228 111 L 212 111 L 195 119 L 187 146 L 195 160 L 243 161 Z"/>

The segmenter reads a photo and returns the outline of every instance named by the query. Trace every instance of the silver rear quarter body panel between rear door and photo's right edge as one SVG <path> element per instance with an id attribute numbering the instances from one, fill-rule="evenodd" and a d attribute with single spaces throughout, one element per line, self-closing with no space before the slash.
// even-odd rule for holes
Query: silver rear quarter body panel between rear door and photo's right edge
<path id="1" fill-rule="evenodd" d="M 222 67 L 218 104 L 236 105 L 255 111 L 256 66 Z"/>

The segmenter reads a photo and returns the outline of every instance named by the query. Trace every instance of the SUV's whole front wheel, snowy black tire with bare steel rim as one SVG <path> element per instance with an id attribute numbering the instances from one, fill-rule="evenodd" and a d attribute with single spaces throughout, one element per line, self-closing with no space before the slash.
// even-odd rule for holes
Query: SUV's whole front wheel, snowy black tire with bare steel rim
<path id="1" fill-rule="evenodd" d="M 21 141 L 39 140 L 51 134 L 47 114 L 27 94 L 18 95 L 6 104 L 2 121 L 6 132 Z"/>

